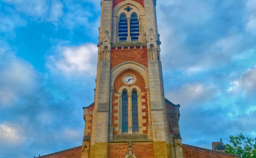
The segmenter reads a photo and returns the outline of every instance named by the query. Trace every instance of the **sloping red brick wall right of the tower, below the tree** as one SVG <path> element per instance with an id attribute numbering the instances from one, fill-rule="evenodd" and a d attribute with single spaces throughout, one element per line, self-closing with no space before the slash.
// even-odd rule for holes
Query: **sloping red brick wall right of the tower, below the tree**
<path id="1" fill-rule="evenodd" d="M 232 155 L 224 155 L 193 147 L 182 146 L 184 158 L 234 158 Z"/>

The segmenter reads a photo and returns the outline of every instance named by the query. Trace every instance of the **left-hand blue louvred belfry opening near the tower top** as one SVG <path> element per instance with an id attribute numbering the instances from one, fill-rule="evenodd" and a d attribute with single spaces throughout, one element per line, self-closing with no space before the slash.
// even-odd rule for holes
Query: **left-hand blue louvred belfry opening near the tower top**
<path id="1" fill-rule="evenodd" d="M 126 42 L 128 36 L 128 23 L 125 15 L 121 15 L 118 23 L 119 42 Z"/>

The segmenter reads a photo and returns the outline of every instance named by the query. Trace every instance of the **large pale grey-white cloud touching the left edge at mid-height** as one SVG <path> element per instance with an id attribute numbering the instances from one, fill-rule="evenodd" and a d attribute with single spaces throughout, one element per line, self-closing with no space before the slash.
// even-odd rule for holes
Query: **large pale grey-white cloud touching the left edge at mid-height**
<path id="1" fill-rule="evenodd" d="M 17 58 L 7 49 L 0 49 L 0 106 L 15 103 L 21 96 L 33 93 L 38 74 L 32 65 Z"/>

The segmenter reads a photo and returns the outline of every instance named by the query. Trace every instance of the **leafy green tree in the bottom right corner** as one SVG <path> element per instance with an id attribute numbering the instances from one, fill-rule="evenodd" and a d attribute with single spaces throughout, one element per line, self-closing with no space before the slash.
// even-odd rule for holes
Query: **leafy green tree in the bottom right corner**
<path id="1" fill-rule="evenodd" d="M 230 135 L 230 144 L 224 144 L 225 151 L 241 158 L 256 158 L 256 138 L 245 137 L 242 133 Z"/>

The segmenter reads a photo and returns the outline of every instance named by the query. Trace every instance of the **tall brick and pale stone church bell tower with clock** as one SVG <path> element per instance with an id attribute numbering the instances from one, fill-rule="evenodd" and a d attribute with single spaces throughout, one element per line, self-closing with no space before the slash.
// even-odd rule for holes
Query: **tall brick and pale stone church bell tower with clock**
<path id="1" fill-rule="evenodd" d="M 183 158 L 180 105 L 164 96 L 156 0 L 102 0 L 101 9 L 82 158 Z"/>

